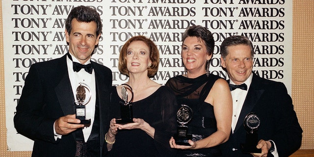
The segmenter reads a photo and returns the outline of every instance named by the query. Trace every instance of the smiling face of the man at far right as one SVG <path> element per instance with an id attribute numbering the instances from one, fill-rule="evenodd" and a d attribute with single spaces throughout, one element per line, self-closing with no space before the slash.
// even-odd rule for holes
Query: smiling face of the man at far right
<path id="1" fill-rule="evenodd" d="M 229 46 L 227 52 L 226 60 L 221 57 L 221 65 L 227 69 L 229 78 L 235 84 L 241 84 L 249 78 L 253 69 L 250 46 Z"/>

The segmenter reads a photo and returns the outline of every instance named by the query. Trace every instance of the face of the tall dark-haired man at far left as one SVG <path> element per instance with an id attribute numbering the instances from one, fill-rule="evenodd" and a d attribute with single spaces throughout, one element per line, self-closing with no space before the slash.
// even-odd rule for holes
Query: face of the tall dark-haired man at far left
<path id="1" fill-rule="evenodd" d="M 69 52 L 74 55 L 81 64 L 84 64 L 94 52 L 95 46 L 98 45 L 99 37 L 96 36 L 97 25 L 95 22 L 78 22 L 72 20 L 72 30 L 65 30 L 65 37 L 69 43 Z"/>

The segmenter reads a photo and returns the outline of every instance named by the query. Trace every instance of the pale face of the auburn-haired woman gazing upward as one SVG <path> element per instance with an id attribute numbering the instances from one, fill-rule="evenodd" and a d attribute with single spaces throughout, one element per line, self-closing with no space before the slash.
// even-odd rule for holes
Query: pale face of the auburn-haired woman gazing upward
<path id="1" fill-rule="evenodd" d="M 133 41 L 127 49 L 127 68 L 130 73 L 147 73 L 147 67 L 151 60 L 149 58 L 149 47 L 143 41 Z"/>

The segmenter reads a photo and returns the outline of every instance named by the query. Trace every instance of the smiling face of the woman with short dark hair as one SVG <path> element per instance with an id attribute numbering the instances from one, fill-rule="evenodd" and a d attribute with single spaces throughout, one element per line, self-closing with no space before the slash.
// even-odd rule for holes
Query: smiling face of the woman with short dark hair
<path id="1" fill-rule="evenodd" d="M 187 72 L 204 74 L 206 62 L 211 58 L 211 55 L 207 53 L 202 39 L 189 36 L 183 41 L 181 57 Z"/>

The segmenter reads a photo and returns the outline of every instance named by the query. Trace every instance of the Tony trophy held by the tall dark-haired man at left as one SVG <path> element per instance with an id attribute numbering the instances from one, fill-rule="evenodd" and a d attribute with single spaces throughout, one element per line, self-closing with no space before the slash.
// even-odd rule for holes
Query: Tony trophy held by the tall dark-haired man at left
<path id="1" fill-rule="evenodd" d="M 87 89 L 87 96 L 86 96 Z M 79 83 L 79 86 L 76 90 L 76 118 L 80 120 L 79 124 L 90 124 L 90 119 L 85 119 L 85 105 L 90 101 L 92 96 L 89 86 L 85 83 Z"/>

